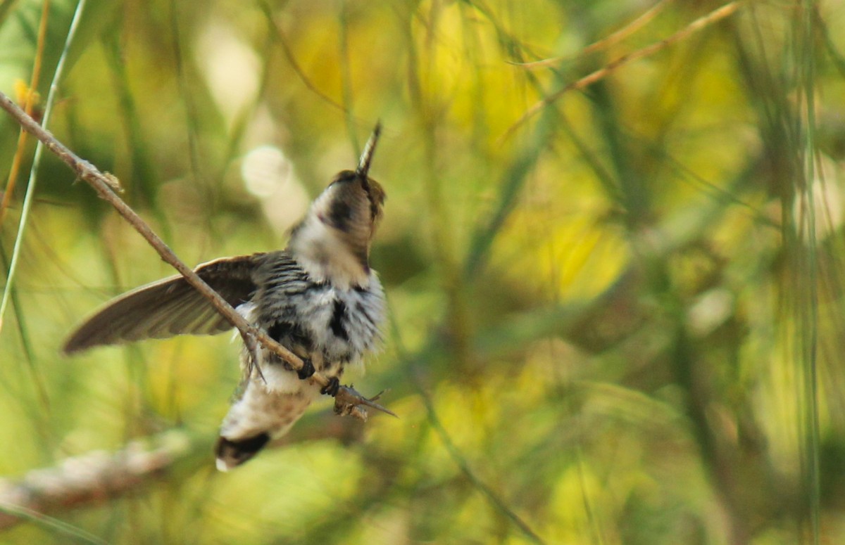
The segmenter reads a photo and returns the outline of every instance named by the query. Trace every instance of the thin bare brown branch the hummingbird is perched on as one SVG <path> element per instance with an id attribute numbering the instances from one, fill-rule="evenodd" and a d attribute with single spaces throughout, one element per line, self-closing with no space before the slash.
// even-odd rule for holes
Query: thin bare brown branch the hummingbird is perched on
<path id="1" fill-rule="evenodd" d="M 25 111 L 21 110 L 13 100 L 9 99 L 2 92 L 0 92 L 0 107 L 8 111 L 26 132 L 30 132 L 41 143 L 44 143 L 46 148 L 52 151 L 53 154 L 56 154 L 59 159 L 62 159 L 64 163 L 74 170 L 79 178 L 88 182 L 102 199 L 109 202 L 117 210 L 117 213 L 120 213 L 144 237 L 144 240 L 150 243 L 150 246 L 158 252 L 162 260 L 182 274 L 185 280 L 194 286 L 194 289 L 199 291 L 206 299 L 209 299 L 211 305 L 214 306 L 215 310 L 221 316 L 226 318 L 226 321 L 231 323 L 232 326 L 237 327 L 237 331 L 243 338 L 243 343 L 252 356 L 251 364 L 254 365 L 253 369 L 258 370 L 260 374 L 257 343 L 261 343 L 264 348 L 267 348 L 270 352 L 286 361 L 294 370 L 303 369 L 304 364 L 302 359 L 299 359 L 296 354 L 281 344 L 276 343 L 266 332 L 246 321 L 237 310 L 232 308 L 232 305 L 226 302 L 226 299 L 223 299 L 220 294 L 215 292 L 214 289 L 211 289 L 202 278 L 199 278 L 197 273 L 194 273 L 193 269 L 182 262 L 170 247 L 165 244 L 164 240 L 161 240 L 158 235 L 155 235 L 150 225 L 146 224 L 138 213 L 135 213 L 126 202 L 123 202 L 123 199 L 117 196 L 115 190 L 119 187 L 119 181 L 117 181 L 114 175 L 101 172 L 95 165 L 91 165 L 85 159 L 74 154 L 67 146 L 59 142 L 51 132 L 46 131 L 37 121 L 26 115 Z M 373 402 L 373 400 L 363 397 L 351 386 L 339 386 L 336 379 L 330 380 L 319 372 L 315 372 L 308 380 L 321 386 L 324 393 L 329 393 L 332 397 L 335 397 L 335 412 L 338 414 L 352 414 L 357 418 L 366 419 L 366 411 L 363 407 L 360 407 L 361 405 L 373 407 L 384 413 L 393 414 L 386 408 L 381 407 L 378 403 Z"/>

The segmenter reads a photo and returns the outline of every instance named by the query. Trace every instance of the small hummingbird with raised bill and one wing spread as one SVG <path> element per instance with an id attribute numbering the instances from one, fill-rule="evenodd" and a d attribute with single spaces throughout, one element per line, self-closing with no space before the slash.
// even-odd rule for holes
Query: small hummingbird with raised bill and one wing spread
<path id="1" fill-rule="evenodd" d="M 384 291 L 369 254 L 385 195 L 368 176 L 379 132 L 377 125 L 357 169 L 342 170 L 314 199 L 284 250 L 223 257 L 195 269 L 248 322 L 304 363 L 297 371 L 266 348 L 242 349 L 242 379 L 215 444 L 221 471 L 291 429 L 319 396 L 320 386 L 308 380 L 315 370 L 336 385 L 346 367 L 361 366 L 379 348 Z M 108 301 L 70 334 L 63 352 L 231 329 L 177 275 Z"/>

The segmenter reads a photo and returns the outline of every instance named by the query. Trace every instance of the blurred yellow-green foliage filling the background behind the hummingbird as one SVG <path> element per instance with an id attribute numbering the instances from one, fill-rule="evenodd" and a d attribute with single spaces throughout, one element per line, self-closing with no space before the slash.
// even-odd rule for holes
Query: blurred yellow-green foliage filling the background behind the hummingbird
<path id="1" fill-rule="evenodd" d="M 49 128 L 189 264 L 283 246 L 383 121 L 391 323 L 352 380 L 401 419 L 351 440 L 324 402 L 216 473 L 229 337 L 58 355 L 101 302 L 172 272 L 45 157 L 0 331 L 0 473 L 185 430 L 166 472 L 50 513 L 115 543 L 842 542 L 845 4 L 688 26 L 721 6 L 90 0 Z M 6 94 L 41 9 L 0 3 Z M 41 105 L 74 9 L 50 4 Z M 0 116 L 3 177 L 16 153 L 30 167 L 17 138 Z"/>

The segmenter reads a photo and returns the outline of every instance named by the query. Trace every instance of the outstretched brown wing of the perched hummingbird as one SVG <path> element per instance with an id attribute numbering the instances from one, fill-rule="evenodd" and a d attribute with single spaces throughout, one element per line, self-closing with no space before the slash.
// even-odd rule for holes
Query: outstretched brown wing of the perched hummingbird
<path id="1" fill-rule="evenodd" d="M 265 256 L 257 253 L 224 257 L 194 270 L 230 305 L 237 306 L 248 301 L 257 289 L 253 275 Z M 209 300 L 177 275 L 133 289 L 106 303 L 68 337 L 64 353 L 183 333 L 211 335 L 229 329 L 232 325 Z"/>

